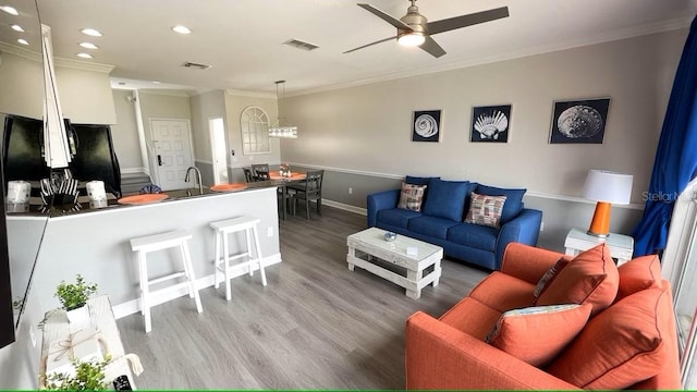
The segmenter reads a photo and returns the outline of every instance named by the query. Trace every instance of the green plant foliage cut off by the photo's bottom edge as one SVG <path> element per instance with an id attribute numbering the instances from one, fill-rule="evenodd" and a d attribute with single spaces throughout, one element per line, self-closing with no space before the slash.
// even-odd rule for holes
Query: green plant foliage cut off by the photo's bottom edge
<path id="1" fill-rule="evenodd" d="M 51 373 L 46 377 L 46 390 L 48 391 L 105 391 L 110 389 L 105 381 L 105 368 L 109 365 L 110 357 L 102 362 L 73 360 L 75 372 Z"/>

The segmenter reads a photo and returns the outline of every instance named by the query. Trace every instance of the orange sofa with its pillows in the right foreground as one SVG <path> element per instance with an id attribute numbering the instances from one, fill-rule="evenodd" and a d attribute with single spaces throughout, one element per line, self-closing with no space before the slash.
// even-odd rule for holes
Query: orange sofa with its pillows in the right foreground
<path id="1" fill-rule="evenodd" d="M 681 389 L 670 283 L 656 256 L 617 268 L 606 245 L 571 259 L 512 243 L 440 319 L 408 318 L 406 388 Z"/>

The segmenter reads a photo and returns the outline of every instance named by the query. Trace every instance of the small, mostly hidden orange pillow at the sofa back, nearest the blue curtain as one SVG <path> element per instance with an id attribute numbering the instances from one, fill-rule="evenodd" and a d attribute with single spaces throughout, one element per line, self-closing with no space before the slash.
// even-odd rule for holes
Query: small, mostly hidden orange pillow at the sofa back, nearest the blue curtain
<path id="1" fill-rule="evenodd" d="M 617 268 L 620 272 L 620 301 L 641 290 L 661 287 L 661 261 L 658 256 L 649 255 L 632 259 Z"/>

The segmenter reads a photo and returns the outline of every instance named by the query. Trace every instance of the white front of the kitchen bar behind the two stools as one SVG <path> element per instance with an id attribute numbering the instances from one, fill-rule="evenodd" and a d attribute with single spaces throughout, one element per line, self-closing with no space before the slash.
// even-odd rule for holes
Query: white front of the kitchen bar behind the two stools
<path id="1" fill-rule="evenodd" d="M 277 184 L 264 182 L 249 185 L 237 192 L 217 193 L 208 189 L 204 195 L 192 196 L 184 189 L 181 195 L 172 193 L 172 197 L 161 203 L 138 206 L 122 206 L 112 200 L 108 207 L 100 209 L 86 208 L 70 212 L 51 210 L 47 212 L 50 215 L 48 219 L 47 215 L 11 213 L 8 231 L 15 234 L 12 237 L 16 242 L 13 246 L 15 249 L 25 248 L 26 242 L 32 238 L 40 242 L 30 291 L 40 298 L 41 311 L 58 307 L 60 304 L 53 297 L 56 286 L 61 280 L 72 281 L 80 273 L 87 282 L 97 283 L 99 294 L 109 295 L 114 305 L 114 315 L 119 318 L 139 310 L 138 268 L 131 249 L 131 238 L 187 230 L 193 235 L 188 246 L 196 284 L 204 289 L 213 283 L 215 232 L 210 223 L 252 216 L 260 220 L 258 233 L 264 265 L 281 261 Z M 28 235 L 29 224 L 36 226 L 36 236 Z M 244 238 L 232 236 L 231 253 L 237 253 L 245 246 Z M 154 275 L 171 273 L 172 266 L 176 265 L 172 262 L 173 257 L 179 256 L 170 252 L 148 255 L 148 269 Z M 26 257 L 25 267 L 30 267 L 33 258 Z M 239 269 L 236 273 L 242 275 L 248 272 Z M 187 293 L 183 291 L 179 294 Z M 224 290 L 217 294 L 224 298 Z M 158 298 L 155 301 L 159 302 Z M 205 315 L 206 302 L 203 306 Z"/>

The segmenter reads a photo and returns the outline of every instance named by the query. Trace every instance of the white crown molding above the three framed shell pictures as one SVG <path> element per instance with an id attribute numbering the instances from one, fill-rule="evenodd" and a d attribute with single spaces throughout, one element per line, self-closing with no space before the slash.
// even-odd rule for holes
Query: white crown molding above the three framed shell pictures
<path id="1" fill-rule="evenodd" d="M 678 17 L 668 21 L 661 21 L 658 23 L 650 23 L 639 26 L 632 26 L 619 30 L 609 33 L 601 33 L 595 36 L 583 37 L 575 40 L 557 41 L 537 47 L 525 48 L 521 50 L 512 50 L 508 52 L 492 53 L 485 57 L 466 57 L 452 61 L 439 62 L 436 65 L 421 66 L 406 71 L 386 73 L 375 77 L 367 77 L 364 79 L 352 81 L 346 83 L 334 84 L 330 86 L 322 86 L 317 88 L 309 88 L 304 90 L 296 90 L 293 93 L 286 93 L 285 97 L 296 97 L 317 93 L 333 91 L 342 88 L 364 86 L 372 83 L 394 81 L 406 77 L 414 77 L 420 75 L 427 75 L 431 73 L 445 72 L 452 70 L 464 69 L 475 65 L 490 64 L 499 61 L 519 59 L 530 56 L 551 53 L 555 51 L 568 50 L 590 45 L 598 45 L 604 42 L 611 42 L 622 39 L 635 38 L 650 34 L 658 34 L 664 32 L 671 32 L 680 28 L 687 28 L 692 23 L 693 16 Z"/>

